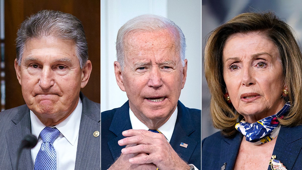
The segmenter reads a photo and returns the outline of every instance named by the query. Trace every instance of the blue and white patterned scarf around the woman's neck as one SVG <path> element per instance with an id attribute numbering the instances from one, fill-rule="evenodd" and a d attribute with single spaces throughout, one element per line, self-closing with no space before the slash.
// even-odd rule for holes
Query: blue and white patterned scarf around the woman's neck
<path id="1" fill-rule="evenodd" d="M 241 120 L 235 125 L 235 128 L 246 137 L 246 141 L 252 142 L 253 145 L 269 142 L 278 136 L 281 125 L 277 118 L 282 119 L 284 114 L 289 111 L 290 106 L 291 104 L 287 102 L 278 113 L 255 123 Z"/>

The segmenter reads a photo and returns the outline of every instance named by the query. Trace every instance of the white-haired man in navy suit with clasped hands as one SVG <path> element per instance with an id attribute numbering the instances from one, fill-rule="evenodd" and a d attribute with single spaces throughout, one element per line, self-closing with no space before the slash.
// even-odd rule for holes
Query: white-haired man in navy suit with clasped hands
<path id="1" fill-rule="evenodd" d="M 185 47 L 182 30 L 161 16 L 140 15 L 119 29 L 114 71 L 129 100 L 101 113 L 102 170 L 201 167 L 201 110 L 178 100 Z"/>

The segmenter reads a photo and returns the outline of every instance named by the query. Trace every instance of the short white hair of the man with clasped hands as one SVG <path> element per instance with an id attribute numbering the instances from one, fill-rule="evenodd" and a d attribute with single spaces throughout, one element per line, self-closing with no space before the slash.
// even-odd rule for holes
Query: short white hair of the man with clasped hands
<path id="1" fill-rule="evenodd" d="M 172 28 L 175 31 L 175 37 L 179 42 L 179 55 L 182 61 L 182 67 L 185 66 L 185 51 L 186 40 L 182 30 L 173 21 L 168 18 L 158 15 L 140 15 L 127 21 L 117 33 L 116 38 L 116 56 L 117 61 L 120 63 L 121 69 L 125 67 L 124 61 L 124 38 L 127 37 L 129 32 L 147 32 L 159 31 L 162 29 Z"/>

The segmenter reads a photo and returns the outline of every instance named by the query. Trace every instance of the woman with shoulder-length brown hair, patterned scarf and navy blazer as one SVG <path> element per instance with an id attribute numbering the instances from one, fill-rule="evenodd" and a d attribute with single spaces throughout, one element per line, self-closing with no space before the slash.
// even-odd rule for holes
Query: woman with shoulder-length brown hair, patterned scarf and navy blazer
<path id="1" fill-rule="evenodd" d="M 202 168 L 301 169 L 302 54 L 272 13 L 243 13 L 211 32 L 204 52 L 210 113 Z"/>

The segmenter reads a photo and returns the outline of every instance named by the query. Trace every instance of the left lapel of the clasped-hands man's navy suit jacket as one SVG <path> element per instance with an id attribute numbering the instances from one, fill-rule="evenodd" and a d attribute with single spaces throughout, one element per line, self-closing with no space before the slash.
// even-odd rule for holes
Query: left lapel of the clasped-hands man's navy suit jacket
<path id="1" fill-rule="evenodd" d="M 108 146 L 114 160 L 120 156 L 121 150 L 125 147 L 117 145 L 117 141 L 125 138 L 122 135 L 122 132 L 128 129 L 132 129 L 129 116 L 129 101 L 117 109 L 109 127 L 109 130 L 117 136 L 116 138 L 108 141 Z"/>

